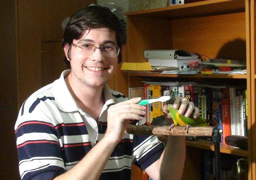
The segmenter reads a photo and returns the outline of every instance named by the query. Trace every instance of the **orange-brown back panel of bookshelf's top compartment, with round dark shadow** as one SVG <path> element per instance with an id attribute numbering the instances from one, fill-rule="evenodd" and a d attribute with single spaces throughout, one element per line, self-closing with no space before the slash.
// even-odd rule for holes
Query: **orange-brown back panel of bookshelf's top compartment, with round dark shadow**
<path id="1" fill-rule="evenodd" d="M 174 49 L 187 50 L 210 58 L 246 60 L 243 12 L 173 20 L 172 27 Z"/>

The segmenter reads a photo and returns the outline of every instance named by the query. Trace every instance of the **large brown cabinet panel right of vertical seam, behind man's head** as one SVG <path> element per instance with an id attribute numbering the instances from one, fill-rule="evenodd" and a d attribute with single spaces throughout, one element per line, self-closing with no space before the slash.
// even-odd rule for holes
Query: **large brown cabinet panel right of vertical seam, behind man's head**
<path id="1" fill-rule="evenodd" d="M 61 22 L 95 0 L 18 0 L 21 103 L 44 85 L 42 42 L 61 41 Z"/>

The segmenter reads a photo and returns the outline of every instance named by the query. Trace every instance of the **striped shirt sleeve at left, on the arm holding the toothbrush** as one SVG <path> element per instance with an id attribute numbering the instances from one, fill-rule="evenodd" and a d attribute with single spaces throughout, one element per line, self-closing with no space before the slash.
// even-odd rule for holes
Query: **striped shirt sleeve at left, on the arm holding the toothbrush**
<path id="1" fill-rule="evenodd" d="M 22 180 L 54 179 L 66 171 L 56 129 L 46 117 L 19 116 L 15 138 Z"/>

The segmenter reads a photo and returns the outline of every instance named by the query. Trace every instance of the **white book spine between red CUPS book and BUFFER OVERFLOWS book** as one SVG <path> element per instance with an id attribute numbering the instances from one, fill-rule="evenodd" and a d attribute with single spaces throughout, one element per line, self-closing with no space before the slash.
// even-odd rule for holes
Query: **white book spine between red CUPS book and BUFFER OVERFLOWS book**
<path id="1" fill-rule="evenodd" d="M 236 103 L 236 88 L 229 88 L 230 95 L 230 121 L 231 121 L 231 135 L 238 135 L 237 133 L 237 103 Z"/>

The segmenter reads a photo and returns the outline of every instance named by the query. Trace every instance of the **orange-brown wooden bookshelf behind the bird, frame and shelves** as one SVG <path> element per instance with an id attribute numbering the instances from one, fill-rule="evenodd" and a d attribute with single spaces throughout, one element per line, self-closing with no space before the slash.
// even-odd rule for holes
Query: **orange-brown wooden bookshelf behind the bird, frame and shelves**
<path id="1" fill-rule="evenodd" d="M 128 39 L 126 62 L 147 62 L 143 52 L 153 49 L 181 49 L 211 58 L 225 55 L 225 58 L 246 61 L 247 74 L 244 75 L 128 73 L 127 89 L 143 87 L 141 81 L 152 79 L 246 84 L 248 97 L 251 97 L 248 99 L 248 150 L 221 144 L 221 153 L 248 158 L 250 180 L 256 179 L 256 106 L 253 103 L 256 88 L 255 11 L 253 0 L 206 0 L 125 13 Z M 214 144 L 206 140 L 187 141 L 186 173 L 182 179 L 200 179 L 200 173 L 193 170 L 200 168 L 200 160 L 193 156 L 200 157 L 200 152 L 204 150 L 213 151 Z M 132 170 L 133 180 L 140 179 L 140 176 L 138 169 Z"/>

